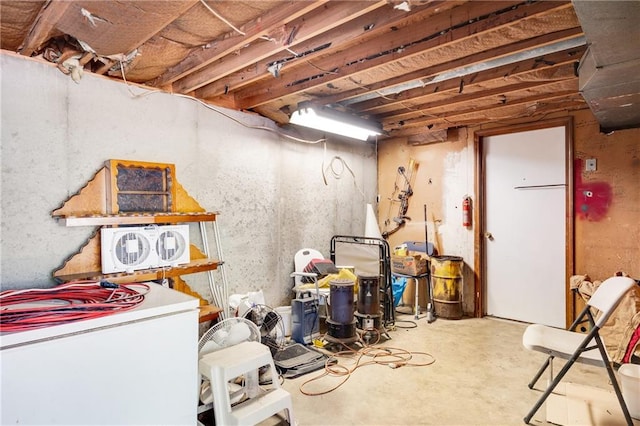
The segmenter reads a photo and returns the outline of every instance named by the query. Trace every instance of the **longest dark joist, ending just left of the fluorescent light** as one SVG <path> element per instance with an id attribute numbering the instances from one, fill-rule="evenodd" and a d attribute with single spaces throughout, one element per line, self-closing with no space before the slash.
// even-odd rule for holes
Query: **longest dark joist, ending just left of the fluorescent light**
<path id="1" fill-rule="evenodd" d="M 470 4 L 474 5 L 473 2 Z M 494 8 L 495 4 L 501 5 L 501 3 L 490 4 L 493 4 Z M 306 90 L 325 86 L 336 80 L 348 78 L 356 73 L 386 65 L 389 63 L 389 55 L 392 55 L 393 61 L 399 61 L 424 54 L 428 50 L 477 38 L 482 34 L 494 32 L 498 28 L 516 24 L 522 25 L 526 20 L 540 14 L 566 10 L 571 7 L 571 3 L 561 3 L 560 6 L 556 2 L 533 3 L 509 9 L 497 15 L 488 15 L 472 23 L 468 22 L 470 16 L 474 15 L 469 14 L 460 14 L 459 20 L 454 21 L 454 12 L 459 12 L 461 9 L 456 8 L 444 16 L 434 17 L 437 18 L 439 25 L 446 23 L 447 30 L 438 33 L 432 32 L 431 36 L 425 36 L 425 25 L 420 23 L 385 34 L 369 40 L 367 43 L 354 46 L 353 49 L 341 51 L 338 55 L 319 60 L 314 64 L 314 67 L 307 67 L 305 70 L 289 73 L 278 80 L 241 90 L 236 93 L 236 102 L 240 108 L 253 108 L 274 99 L 299 94 Z M 436 24 L 435 21 L 434 19 L 434 24 Z M 400 46 L 405 47 L 398 49 Z M 389 53 L 383 54 L 384 52 Z M 334 70 L 334 72 L 319 73 L 318 69 Z"/>

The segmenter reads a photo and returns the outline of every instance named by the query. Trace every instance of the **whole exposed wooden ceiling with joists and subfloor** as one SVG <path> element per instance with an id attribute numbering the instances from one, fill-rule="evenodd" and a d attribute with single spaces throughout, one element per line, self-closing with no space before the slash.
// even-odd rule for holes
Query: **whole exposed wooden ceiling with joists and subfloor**
<path id="1" fill-rule="evenodd" d="M 420 143 L 585 108 L 568 1 L 5 1 L 1 47 L 253 111 L 313 101 Z M 80 83 L 81 84 L 81 83 Z"/>

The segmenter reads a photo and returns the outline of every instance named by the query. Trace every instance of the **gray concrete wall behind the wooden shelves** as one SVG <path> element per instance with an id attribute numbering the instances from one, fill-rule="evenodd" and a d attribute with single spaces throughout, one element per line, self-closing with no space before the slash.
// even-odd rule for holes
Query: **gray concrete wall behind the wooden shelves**
<path id="1" fill-rule="evenodd" d="M 76 84 L 11 54 L 0 61 L 2 289 L 54 285 L 52 272 L 94 228 L 65 227 L 51 212 L 113 158 L 175 164 L 189 194 L 220 212 L 230 291 L 263 289 L 273 306 L 291 296 L 298 249 L 328 257 L 333 235 L 364 233 L 377 193 L 373 145 L 329 140 L 325 152 L 246 126 L 277 129 L 259 116 L 225 111 L 231 119 L 165 93 L 134 97 L 145 91 L 93 75 Z M 339 173 L 342 161 L 355 179 Z M 330 164 L 338 176 L 328 171 L 325 185 Z M 197 275 L 185 278 L 208 297 L 206 274 Z"/>

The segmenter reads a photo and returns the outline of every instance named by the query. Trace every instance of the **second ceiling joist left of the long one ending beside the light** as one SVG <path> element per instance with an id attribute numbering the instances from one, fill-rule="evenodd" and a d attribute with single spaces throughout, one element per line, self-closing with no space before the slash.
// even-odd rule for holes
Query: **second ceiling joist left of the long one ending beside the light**
<path id="1" fill-rule="evenodd" d="M 295 34 L 296 40 L 308 40 L 385 5 L 387 5 L 385 0 L 376 2 L 329 2 L 324 6 L 322 13 L 305 17 L 304 22 L 286 24 L 284 33 Z M 239 55 L 227 55 L 216 64 L 212 64 L 206 69 L 198 70 L 175 82 L 173 90 L 179 93 L 190 92 L 287 48 L 289 48 L 289 45 L 285 40 L 276 40 L 275 43 L 271 41 L 252 43 L 248 47 L 242 48 Z"/>

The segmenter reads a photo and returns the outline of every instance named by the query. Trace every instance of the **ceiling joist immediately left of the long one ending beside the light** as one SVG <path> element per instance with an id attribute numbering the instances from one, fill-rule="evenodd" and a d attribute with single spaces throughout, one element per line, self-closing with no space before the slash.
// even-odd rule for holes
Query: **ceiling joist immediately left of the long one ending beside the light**
<path id="1" fill-rule="evenodd" d="M 290 46 L 291 50 L 277 52 L 268 58 L 257 61 L 238 72 L 235 72 L 224 78 L 209 83 L 196 91 L 196 96 L 203 99 L 212 99 L 216 96 L 223 95 L 229 91 L 238 90 L 248 84 L 255 83 L 261 79 L 273 79 L 267 68 L 274 63 L 282 64 L 286 70 L 295 67 L 302 62 L 314 60 L 327 52 L 335 51 L 347 43 L 360 37 L 371 37 L 374 34 L 389 31 L 392 26 L 399 27 L 407 20 L 429 19 L 433 15 L 434 10 L 453 8 L 463 3 L 461 1 L 432 1 L 426 5 L 413 7 L 411 15 L 397 9 L 380 8 L 373 12 L 359 16 L 349 25 L 342 25 L 330 31 L 326 31 L 313 38 L 302 38 L 298 34 L 298 38 Z M 294 25 L 294 23 L 292 23 Z M 304 27 L 300 25 L 303 29 Z M 306 39 L 306 40 L 305 40 Z M 326 48 L 322 48 L 328 46 Z"/>

